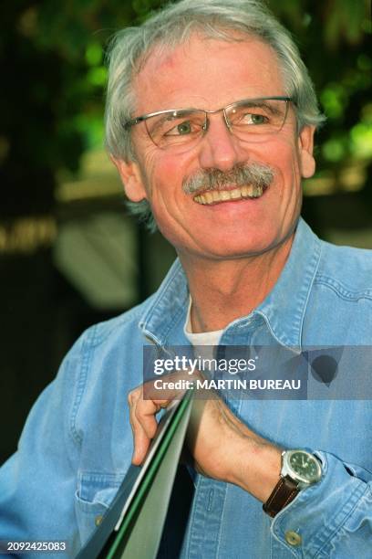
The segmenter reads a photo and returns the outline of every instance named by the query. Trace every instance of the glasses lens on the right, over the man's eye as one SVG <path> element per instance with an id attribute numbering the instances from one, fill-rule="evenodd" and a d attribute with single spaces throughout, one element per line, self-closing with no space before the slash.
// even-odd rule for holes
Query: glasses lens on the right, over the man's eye
<path id="1" fill-rule="evenodd" d="M 226 109 L 226 118 L 233 134 L 242 140 L 253 136 L 263 140 L 283 128 L 287 111 L 285 100 L 245 100 Z"/>

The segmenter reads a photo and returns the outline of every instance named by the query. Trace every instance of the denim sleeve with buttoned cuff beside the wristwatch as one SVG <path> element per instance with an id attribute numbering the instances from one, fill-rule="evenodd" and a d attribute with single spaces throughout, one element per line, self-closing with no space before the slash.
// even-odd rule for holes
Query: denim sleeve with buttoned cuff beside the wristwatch
<path id="1" fill-rule="evenodd" d="M 278 542 L 298 557 L 351 559 L 372 549 L 372 473 L 315 452 L 322 480 L 300 491 L 272 522 Z"/>

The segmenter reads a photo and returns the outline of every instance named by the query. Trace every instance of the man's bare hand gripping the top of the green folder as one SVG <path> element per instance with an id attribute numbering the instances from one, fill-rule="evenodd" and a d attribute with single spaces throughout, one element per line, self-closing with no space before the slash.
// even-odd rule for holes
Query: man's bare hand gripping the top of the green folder
<path id="1" fill-rule="evenodd" d="M 130 425 L 134 437 L 132 462 L 145 458 L 155 436 L 155 415 L 170 399 L 144 400 L 143 385 L 129 394 Z M 279 480 L 281 453 L 234 416 L 221 398 L 194 398 L 187 433 L 194 467 L 202 475 L 229 481 L 266 501 Z"/>

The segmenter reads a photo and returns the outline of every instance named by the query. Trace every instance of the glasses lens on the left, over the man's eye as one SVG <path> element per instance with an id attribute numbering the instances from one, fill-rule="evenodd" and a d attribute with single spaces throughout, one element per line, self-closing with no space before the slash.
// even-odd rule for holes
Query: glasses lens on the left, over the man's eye
<path id="1" fill-rule="evenodd" d="M 204 111 L 167 111 L 145 121 L 152 142 L 160 148 L 197 142 L 205 131 Z"/>

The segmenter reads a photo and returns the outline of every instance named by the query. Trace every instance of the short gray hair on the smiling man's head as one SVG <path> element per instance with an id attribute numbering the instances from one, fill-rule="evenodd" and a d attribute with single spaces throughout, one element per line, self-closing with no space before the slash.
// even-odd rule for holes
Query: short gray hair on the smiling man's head
<path id="1" fill-rule="evenodd" d="M 317 127 L 325 121 L 298 48 L 290 33 L 261 0 L 181 0 L 166 5 L 141 26 L 119 31 L 111 40 L 105 126 L 106 146 L 114 157 L 135 160 L 130 130 L 123 128 L 123 122 L 132 118 L 136 109 L 132 78 L 155 46 L 177 47 L 195 32 L 202 37 L 225 41 L 242 40 L 242 35 L 263 40 L 276 53 L 284 79 L 284 93 L 295 103 L 299 130 L 308 124 Z M 148 220 L 150 229 L 156 228 L 146 201 L 130 206 L 133 213 Z"/>

